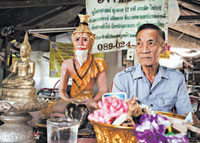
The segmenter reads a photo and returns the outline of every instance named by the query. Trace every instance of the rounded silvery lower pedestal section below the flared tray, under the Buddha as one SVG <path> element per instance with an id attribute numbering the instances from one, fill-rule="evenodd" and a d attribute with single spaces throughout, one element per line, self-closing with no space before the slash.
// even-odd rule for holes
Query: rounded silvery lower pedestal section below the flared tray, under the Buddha
<path id="1" fill-rule="evenodd" d="M 32 127 L 26 123 L 31 118 L 28 113 L 4 113 L 0 117 L 4 122 L 0 127 L 0 142 L 35 143 Z"/>

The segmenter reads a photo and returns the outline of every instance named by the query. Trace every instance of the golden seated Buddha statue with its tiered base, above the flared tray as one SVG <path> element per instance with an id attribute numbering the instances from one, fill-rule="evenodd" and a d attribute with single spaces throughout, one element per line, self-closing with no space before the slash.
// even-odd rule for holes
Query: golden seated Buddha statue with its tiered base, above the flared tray
<path id="1" fill-rule="evenodd" d="M 19 97 L 33 97 L 37 100 L 35 81 L 33 76 L 35 73 L 35 63 L 30 60 L 31 45 L 28 41 L 28 34 L 25 34 L 24 42 L 20 46 L 20 60 L 13 65 L 11 74 L 3 80 L 3 92 L 0 99 L 20 101 Z M 22 100 L 22 101 L 24 101 Z M 30 99 L 32 100 L 32 99 Z"/>

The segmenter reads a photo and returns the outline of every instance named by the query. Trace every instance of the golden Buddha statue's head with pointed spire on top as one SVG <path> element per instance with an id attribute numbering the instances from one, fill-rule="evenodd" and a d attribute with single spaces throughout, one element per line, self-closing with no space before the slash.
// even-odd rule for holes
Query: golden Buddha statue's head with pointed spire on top
<path id="1" fill-rule="evenodd" d="M 28 41 L 28 33 L 26 32 L 24 37 L 24 42 L 20 45 L 20 55 L 21 58 L 26 58 L 30 56 L 31 45 Z"/>

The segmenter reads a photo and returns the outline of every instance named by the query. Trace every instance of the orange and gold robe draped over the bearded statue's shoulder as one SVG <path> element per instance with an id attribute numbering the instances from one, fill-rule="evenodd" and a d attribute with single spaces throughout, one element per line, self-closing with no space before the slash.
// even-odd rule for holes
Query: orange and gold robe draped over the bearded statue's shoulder
<path id="1" fill-rule="evenodd" d="M 90 56 L 88 60 L 81 66 L 76 74 L 72 77 L 71 97 L 76 99 L 92 99 L 93 91 L 84 94 L 84 91 L 91 79 L 96 78 L 97 74 L 107 71 L 104 59 Z M 83 97 L 88 96 L 88 97 Z"/>

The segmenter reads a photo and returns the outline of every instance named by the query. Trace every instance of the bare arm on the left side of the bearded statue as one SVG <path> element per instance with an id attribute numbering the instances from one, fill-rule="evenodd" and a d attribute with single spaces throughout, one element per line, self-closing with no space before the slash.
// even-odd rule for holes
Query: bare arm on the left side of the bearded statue
<path id="1" fill-rule="evenodd" d="M 67 85 L 68 85 L 68 80 L 69 80 L 69 75 L 70 75 L 67 65 L 68 65 L 68 62 L 65 61 L 62 63 L 62 66 L 61 66 L 59 96 L 67 102 L 72 102 L 74 101 L 74 99 L 70 99 L 69 95 L 67 94 Z"/>

